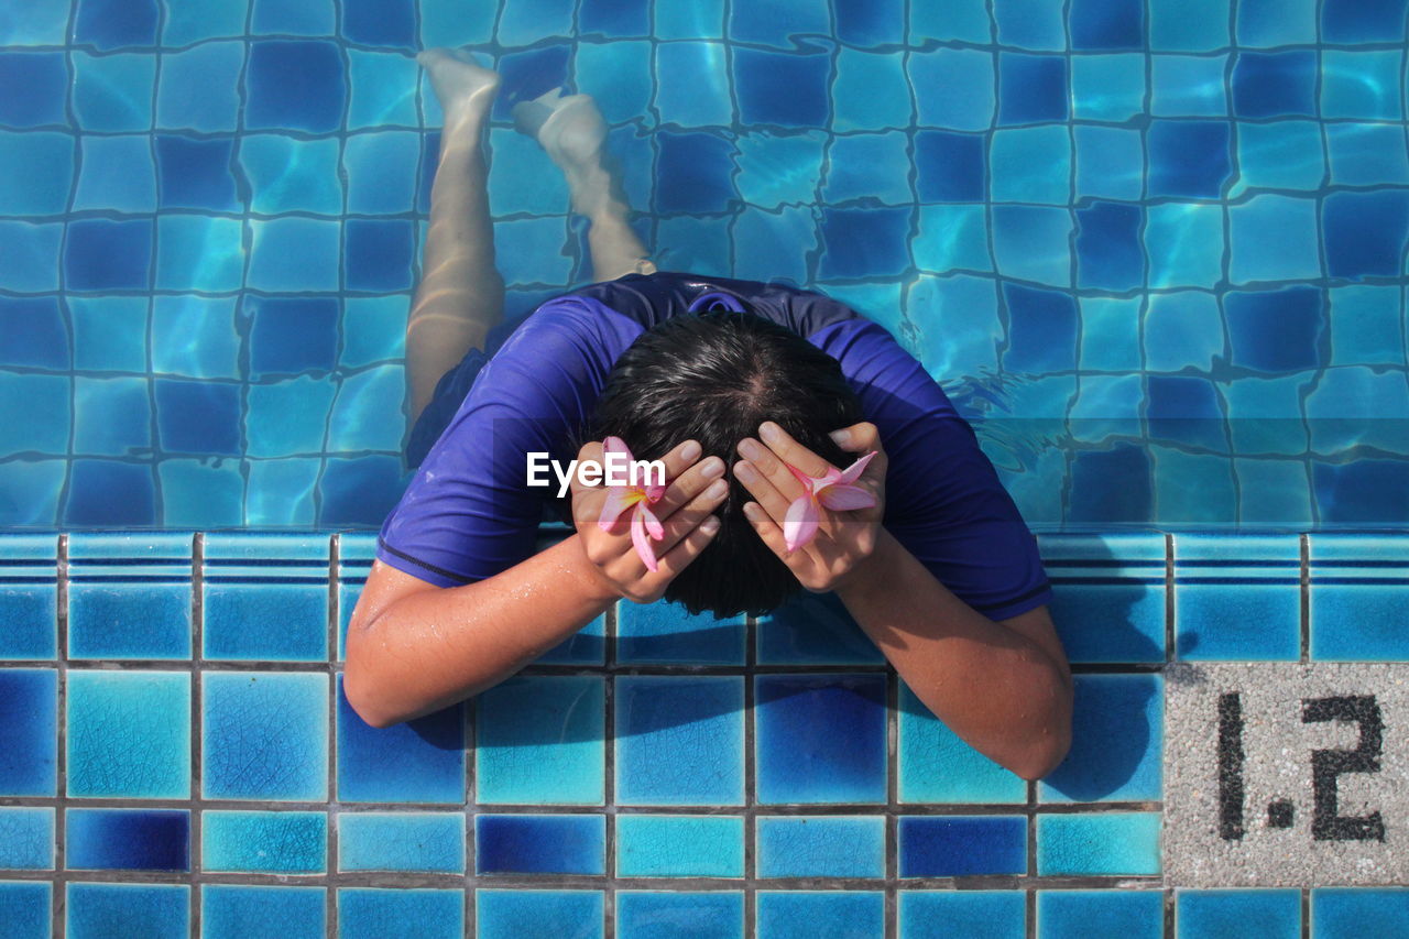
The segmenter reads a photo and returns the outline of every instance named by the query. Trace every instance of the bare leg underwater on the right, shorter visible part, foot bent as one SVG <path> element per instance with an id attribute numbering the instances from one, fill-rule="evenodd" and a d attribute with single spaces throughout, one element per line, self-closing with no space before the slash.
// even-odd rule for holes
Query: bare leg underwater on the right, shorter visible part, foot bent
<path id="1" fill-rule="evenodd" d="M 588 94 L 562 97 L 558 89 L 514 106 L 514 124 L 535 137 L 568 178 L 572 210 L 586 216 L 592 248 L 592 276 L 614 281 L 623 274 L 652 274 L 645 245 L 627 224 L 631 207 L 610 171 L 603 141 L 607 127 Z"/>

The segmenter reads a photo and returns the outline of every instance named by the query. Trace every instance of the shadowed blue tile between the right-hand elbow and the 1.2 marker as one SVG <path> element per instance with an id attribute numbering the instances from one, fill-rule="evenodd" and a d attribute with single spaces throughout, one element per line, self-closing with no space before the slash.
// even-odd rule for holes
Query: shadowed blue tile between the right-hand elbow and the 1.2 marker
<path id="1" fill-rule="evenodd" d="M 1037 782 L 1041 802 L 1164 798 L 1164 681 L 1160 675 L 1075 675 L 1072 746 Z"/>

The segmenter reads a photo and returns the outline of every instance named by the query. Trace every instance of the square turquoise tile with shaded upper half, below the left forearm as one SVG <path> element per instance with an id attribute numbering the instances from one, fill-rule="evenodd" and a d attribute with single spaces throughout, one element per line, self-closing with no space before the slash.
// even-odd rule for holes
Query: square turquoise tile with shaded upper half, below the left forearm
<path id="1" fill-rule="evenodd" d="M 602 805 L 604 687 L 596 675 L 513 675 L 475 698 L 475 799 Z M 620 749 L 624 740 L 617 742 Z"/>

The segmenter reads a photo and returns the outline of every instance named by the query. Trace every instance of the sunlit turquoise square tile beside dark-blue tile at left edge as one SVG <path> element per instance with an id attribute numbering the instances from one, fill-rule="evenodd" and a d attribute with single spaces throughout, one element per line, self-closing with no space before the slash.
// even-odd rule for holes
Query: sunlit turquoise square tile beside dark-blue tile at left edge
<path id="1" fill-rule="evenodd" d="M 66 794 L 190 798 L 190 675 L 68 673 Z"/>

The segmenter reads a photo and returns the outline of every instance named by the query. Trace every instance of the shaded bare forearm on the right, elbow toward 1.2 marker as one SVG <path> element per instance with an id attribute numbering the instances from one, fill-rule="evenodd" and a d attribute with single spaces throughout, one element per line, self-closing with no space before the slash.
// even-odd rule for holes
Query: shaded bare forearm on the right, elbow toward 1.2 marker
<path id="1" fill-rule="evenodd" d="M 1034 767 L 1062 746 L 1071 698 L 1060 665 L 955 596 L 885 529 L 837 595 L 916 696 L 975 750 L 1036 778 Z"/>

